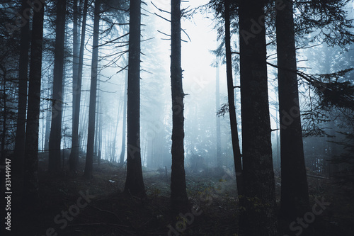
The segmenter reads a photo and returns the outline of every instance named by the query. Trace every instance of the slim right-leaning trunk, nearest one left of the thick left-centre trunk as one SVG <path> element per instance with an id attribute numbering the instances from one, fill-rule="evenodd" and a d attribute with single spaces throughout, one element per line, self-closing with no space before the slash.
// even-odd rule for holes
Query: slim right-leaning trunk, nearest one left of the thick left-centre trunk
<path id="1" fill-rule="evenodd" d="M 91 87 L 89 106 L 89 130 L 87 131 L 87 151 L 84 177 L 92 178 L 93 169 L 93 146 L 95 145 L 95 119 L 96 119 L 96 95 L 97 95 L 97 67 L 98 67 L 98 34 L 100 31 L 100 5 L 101 0 L 95 1 L 93 18 L 93 43 L 91 64 Z"/>

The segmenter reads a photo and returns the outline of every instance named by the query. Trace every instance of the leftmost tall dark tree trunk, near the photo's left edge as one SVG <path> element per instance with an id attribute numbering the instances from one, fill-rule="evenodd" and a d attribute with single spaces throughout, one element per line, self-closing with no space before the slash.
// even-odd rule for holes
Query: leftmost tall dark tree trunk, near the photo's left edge
<path id="1" fill-rule="evenodd" d="M 26 0 L 22 0 L 21 12 L 28 9 Z M 23 178 L 23 165 L 25 155 L 25 113 L 27 108 L 27 82 L 28 82 L 28 52 L 30 49 L 30 23 L 21 27 L 20 60 L 18 64 L 18 113 L 15 137 L 15 160 L 13 173 L 19 181 Z M 16 186 L 16 182 L 14 183 Z M 18 183 L 21 188 L 22 184 Z"/>

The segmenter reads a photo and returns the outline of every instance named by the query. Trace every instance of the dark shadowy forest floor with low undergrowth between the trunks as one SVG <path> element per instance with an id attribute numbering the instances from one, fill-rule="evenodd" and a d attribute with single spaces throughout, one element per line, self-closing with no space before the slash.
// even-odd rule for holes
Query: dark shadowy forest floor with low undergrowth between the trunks
<path id="1" fill-rule="evenodd" d="M 46 168 L 47 162 L 42 157 L 40 207 L 28 206 L 13 213 L 18 220 L 13 222 L 16 235 L 237 235 L 236 181 L 227 170 L 186 171 L 190 210 L 176 213 L 171 210 L 170 183 L 165 169 L 143 170 L 147 198 L 140 199 L 122 193 L 125 168 L 118 164 L 94 164 L 93 179 L 89 181 L 82 178 L 83 172 L 58 177 Z M 80 169 L 84 169 L 83 159 Z M 315 215 L 314 222 L 306 224 L 308 227 L 302 227 L 302 234 L 299 228 L 290 231 L 289 223 L 280 219 L 279 235 L 353 236 L 353 189 L 333 179 L 310 175 L 312 206 L 315 199 L 330 205 Z M 277 177 L 275 181 L 279 205 L 280 179 Z"/>

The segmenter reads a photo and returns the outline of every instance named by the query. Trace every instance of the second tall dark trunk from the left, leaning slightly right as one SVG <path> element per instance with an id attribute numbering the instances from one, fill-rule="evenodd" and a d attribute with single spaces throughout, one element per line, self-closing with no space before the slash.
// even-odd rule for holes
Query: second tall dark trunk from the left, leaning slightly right
<path id="1" fill-rule="evenodd" d="M 40 79 L 42 73 L 42 38 L 44 4 L 33 16 L 30 47 L 30 79 L 28 86 L 28 112 L 25 130 L 24 203 L 38 203 L 38 130 L 40 125 Z"/>

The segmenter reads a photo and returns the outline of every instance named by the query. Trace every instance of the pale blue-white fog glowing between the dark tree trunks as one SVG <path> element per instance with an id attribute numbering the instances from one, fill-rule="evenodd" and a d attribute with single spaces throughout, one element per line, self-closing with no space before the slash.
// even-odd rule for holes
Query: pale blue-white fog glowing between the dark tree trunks
<path id="1" fill-rule="evenodd" d="M 198 6 L 207 4 L 208 1 L 190 1 L 182 3 L 182 8 L 195 9 Z M 155 6 L 154 6 L 155 5 Z M 141 152 L 142 165 L 149 169 L 171 167 L 171 79 L 170 79 L 170 23 L 164 18 L 169 18 L 169 3 L 164 0 L 149 2 L 142 6 L 142 64 L 141 64 Z M 158 9 L 159 8 L 159 9 Z M 164 17 L 164 18 L 162 18 Z M 119 21 L 117 19 L 116 21 Z M 88 28 L 92 30 L 93 20 L 88 19 Z M 182 69 L 183 69 L 183 91 L 185 95 L 185 167 L 190 167 L 190 159 L 193 156 L 201 157 L 202 167 L 216 167 L 217 165 L 217 119 L 221 124 L 221 149 L 222 166 L 233 170 L 232 142 L 229 129 L 229 116 L 217 117 L 217 110 L 222 104 L 227 103 L 226 67 L 222 60 L 212 52 L 220 44 L 217 40 L 215 19 L 212 13 L 195 11 L 193 17 L 182 18 Z M 69 29 L 72 24 L 69 25 Z M 107 28 L 107 23 L 101 22 L 101 31 Z M 127 54 L 120 52 L 127 50 L 127 36 L 122 38 L 123 43 L 108 43 L 108 41 L 125 35 L 128 27 L 116 27 L 110 33 L 101 34 L 100 62 L 97 116 L 98 126 L 101 126 L 101 158 L 112 162 L 119 162 L 122 151 L 123 133 L 123 110 L 125 80 L 127 79 Z M 91 31 L 92 32 L 92 31 Z M 238 35 L 234 35 L 232 45 L 238 44 Z M 308 36 L 311 38 L 311 35 Z M 69 40 L 69 38 L 68 38 Z M 272 40 L 268 38 L 268 41 Z M 87 123 L 89 114 L 89 89 L 91 79 L 91 51 L 92 37 L 89 32 L 86 36 L 86 47 L 84 56 L 84 74 L 81 94 L 81 114 L 79 133 L 81 137 L 81 149 L 86 150 Z M 309 47 L 316 45 L 316 47 Z M 316 42 L 309 43 L 309 48 L 298 51 L 299 68 L 309 74 L 324 74 L 326 71 L 321 67 L 313 66 L 314 58 L 311 53 L 317 51 L 333 50 L 327 45 L 320 45 Z M 68 45 L 69 46 L 69 45 Z M 269 60 L 276 64 L 276 48 L 268 47 Z M 234 46 L 234 51 L 238 48 Z M 346 52 L 343 54 L 345 57 Z M 238 55 L 234 56 L 237 64 Z M 219 64 L 219 68 L 215 67 Z M 235 68 L 236 68 L 235 64 Z M 52 77 L 52 62 L 45 62 L 47 70 L 45 77 Z M 63 113 L 63 137 L 62 148 L 69 150 L 71 147 L 70 130 L 72 128 L 72 94 L 70 79 L 72 71 L 68 61 L 66 64 L 67 73 L 64 84 L 64 113 Z M 343 65 L 342 69 L 345 69 Z M 330 71 L 328 71 L 329 73 Z M 219 101 L 216 101 L 216 77 L 219 76 Z M 327 73 L 327 72 L 326 72 Z M 277 70 L 268 66 L 268 93 L 270 99 L 270 122 L 273 142 L 273 163 L 275 169 L 280 169 L 280 140 L 278 125 L 278 93 L 277 93 Z M 234 85 L 239 86 L 239 72 L 234 70 Z M 50 84 L 44 84 L 43 96 L 50 94 Z M 306 85 L 299 86 L 300 104 L 302 111 L 308 108 Z M 241 145 L 241 103 L 239 89 L 235 89 L 236 114 L 239 124 L 239 136 Z M 48 110 L 47 101 L 42 102 L 43 110 Z M 48 113 L 42 113 L 40 125 L 40 150 L 45 150 L 45 118 Z M 96 126 L 96 128 L 98 127 Z M 310 140 L 310 138 L 309 138 Z M 307 140 L 305 139 L 305 144 Z M 310 148 L 310 147 L 309 147 Z M 125 147 L 124 147 L 125 149 Z M 311 148 L 310 148 L 311 149 Z M 95 148 L 96 151 L 98 151 Z M 305 150 L 307 152 L 307 150 Z M 98 154 L 98 153 L 96 153 Z M 81 156 L 84 158 L 84 156 Z M 125 159 L 126 159 L 125 150 Z"/>

